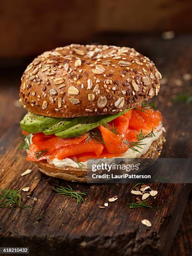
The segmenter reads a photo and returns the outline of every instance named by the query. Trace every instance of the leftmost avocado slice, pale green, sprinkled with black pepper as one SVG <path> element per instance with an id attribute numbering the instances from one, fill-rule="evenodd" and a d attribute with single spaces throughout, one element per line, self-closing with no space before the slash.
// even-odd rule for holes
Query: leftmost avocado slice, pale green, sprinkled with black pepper
<path id="1" fill-rule="evenodd" d="M 28 112 L 20 121 L 23 131 L 28 133 L 39 133 L 60 122 L 63 118 L 52 118 Z"/>

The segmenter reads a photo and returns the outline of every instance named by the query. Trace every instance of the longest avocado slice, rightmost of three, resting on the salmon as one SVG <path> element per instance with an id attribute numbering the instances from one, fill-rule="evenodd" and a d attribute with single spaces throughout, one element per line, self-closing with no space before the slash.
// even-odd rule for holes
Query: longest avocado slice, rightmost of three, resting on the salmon
<path id="1" fill-rule="evenodd" d="M 87 117 L 85 120 L 83 120 L 80 123 L 77 123 L 76 125 L 73 125 L 72 127 L 61 131 L 60 133 L 55 133 L 55 135 L 59 138 L 72 138 L 77 137 L 87 131 L 90 131 L 94 128 L 96 128 L 99 125 L 108 123 L 112 121 L 113 119 L 117 118 L 120 115 L 123 115 L 128 110 L 131 110 L 132 108 L 128 108 L 127 110 L 123 112 L 119 112 L 114 115 L 100 115 L 100 116 L 94 116 L 94 117 Z"/>

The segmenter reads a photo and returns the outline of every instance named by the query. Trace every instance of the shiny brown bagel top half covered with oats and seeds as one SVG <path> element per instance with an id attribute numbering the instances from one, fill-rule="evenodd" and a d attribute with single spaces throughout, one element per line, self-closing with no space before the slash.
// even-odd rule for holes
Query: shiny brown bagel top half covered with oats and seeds
<path id="1" fill-rule="evenodd" d="M 28 65 L 20 101 L 51 117 L 115 114 L 157 95 L 160 79 L 154 63 L 133 48 L 71 44 Z"/>

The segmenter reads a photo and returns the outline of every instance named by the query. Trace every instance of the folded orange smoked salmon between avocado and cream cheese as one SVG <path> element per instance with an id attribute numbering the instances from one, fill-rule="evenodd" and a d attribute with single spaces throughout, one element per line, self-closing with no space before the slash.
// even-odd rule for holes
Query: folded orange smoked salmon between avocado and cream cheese
<path id="1" fill-rule="evenodd" d="M 75 157 L 78 161 L 84 162 L 87 159 L 118 157 L 128 150 L 131 142 L 138 141 L 137 134 L 141 132 L 141 129 L 143 135 L 146 135 L 152 128 L 159 126 L 161 120 L 161 113 L 158 110 L 139 107 L 129 110 L 106 125 L 97 127 L 97 131 L 93 132 L 100 133 L 101 141 L 97 141 L 92 136 L 92 131 L 69 139 L 35 133 L 27 160 L 41 161 L 50 158 L 61 160 L 66 157 Z M 129 143 L 124 143 L 125 141 Z M 38 157 L 36 154 L 39 154 Z"/>

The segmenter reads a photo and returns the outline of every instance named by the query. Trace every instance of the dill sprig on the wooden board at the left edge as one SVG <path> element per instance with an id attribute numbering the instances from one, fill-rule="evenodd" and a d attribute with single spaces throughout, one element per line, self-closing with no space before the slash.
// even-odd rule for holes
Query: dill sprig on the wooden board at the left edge
<path id="1" fill-rule="evenodd" d="M 18 206 L 20 208 L 32 207 L 21 205 L 20 191 L 14 189 L 1 189 L 0 188 L 0 208 L 10 208 Z"/>

